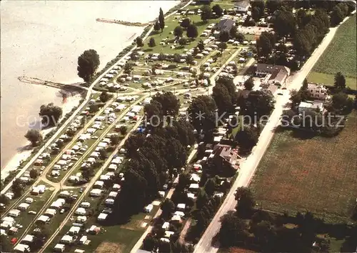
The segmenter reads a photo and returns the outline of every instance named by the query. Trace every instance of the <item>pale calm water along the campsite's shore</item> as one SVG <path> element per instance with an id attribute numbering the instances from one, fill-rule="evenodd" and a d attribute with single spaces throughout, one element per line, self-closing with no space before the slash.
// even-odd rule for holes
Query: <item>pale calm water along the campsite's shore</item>
<path id="1" fill-rule="evenodd" d="M 78 56 L 95 49 L 99 69 L 141 34 L 142 27 L 97 18 L 147 22 L 178 1 L 1 1 L 1 169 L 28 144 L 41 104 L 63 106 L 56 89 L 21 83 L 31 76 L 62 83 L 82 81 Z M 36 124 L 38 125 L 38 124 Z"/>

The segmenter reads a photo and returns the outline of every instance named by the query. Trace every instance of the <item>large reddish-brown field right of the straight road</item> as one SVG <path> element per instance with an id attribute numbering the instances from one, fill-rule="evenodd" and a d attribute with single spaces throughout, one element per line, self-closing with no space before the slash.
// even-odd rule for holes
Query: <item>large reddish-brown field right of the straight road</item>
<path id="1" fill-rule="evenodd" d="M 291 130 L 277 132 L 251 182 L 258 205 L 348 221 L 357 192 L 356 125 L 353 111 L 337 137 L 301 139 Z"/>

